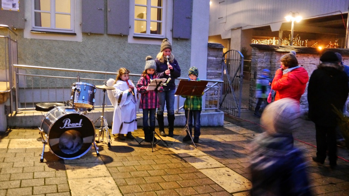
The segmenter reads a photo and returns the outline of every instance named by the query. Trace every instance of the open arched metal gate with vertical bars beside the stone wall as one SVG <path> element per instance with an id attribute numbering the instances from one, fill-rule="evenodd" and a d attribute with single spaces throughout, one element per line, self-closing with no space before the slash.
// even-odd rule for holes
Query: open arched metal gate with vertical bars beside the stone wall
<path id="1" fill-rule="evenodd" d="M 222 96 L 220 110 L 240 117 L 242 100 L 244 56 L 237 50 L 228 50 L 222 58 Z"/>

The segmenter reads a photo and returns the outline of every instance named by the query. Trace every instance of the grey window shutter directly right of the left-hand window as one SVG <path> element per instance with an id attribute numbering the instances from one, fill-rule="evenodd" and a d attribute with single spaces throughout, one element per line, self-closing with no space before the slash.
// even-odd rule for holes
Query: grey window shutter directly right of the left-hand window
<path id="1" fill-rule="evenodd" d="M 104 0 L 82 0 L 82 32 L 104 34 Z"/>

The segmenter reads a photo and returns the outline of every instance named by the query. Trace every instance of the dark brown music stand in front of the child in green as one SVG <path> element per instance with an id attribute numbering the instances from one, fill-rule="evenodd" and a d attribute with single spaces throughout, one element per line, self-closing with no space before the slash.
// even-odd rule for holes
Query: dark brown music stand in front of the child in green
<path id="1" fill-rule="evenodd" d="M 180 96 L 190 96 L 190 102 L 189 102 L 189 107 L 188 107 L 187 123 L 186 123 L 185 128 L 182 131 L 182 133 L 184 131 L 188 132 L 188 135 L 190 135 L 190 139 L 192 140 L 195 148 L 196 148 L 196 145 L 195 145 L 195 143 L 193 141 L 193 138 L 192 138 L 192 136 L 190 134 L 189 125 L 188 125 L 189 116 L 190 116 L 189 113 L 190 113 L 190 107 L 191 107 L 190 104 L 192 102 L 192 96 L 202 96 L 202 93 L 205 90 L 207 83 L 208 83 L 208 81 L 180 80 L 179 84 L 178 84 L 177 91 L 176 91 L 176 93 L 174 93 L 175 95 L 180 95 Z M 176 140 L 178 140 L 179 136 L 176 138 Z M 174 141 L 176 141 L 176 140 L 174 140 Z M 172 144 L 173 144 L 173 142 L 172 142 Z"/>

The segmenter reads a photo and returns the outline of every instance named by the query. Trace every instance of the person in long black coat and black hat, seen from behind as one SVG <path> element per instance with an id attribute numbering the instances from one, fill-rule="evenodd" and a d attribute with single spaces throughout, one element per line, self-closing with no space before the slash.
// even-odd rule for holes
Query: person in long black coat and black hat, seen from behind
<path id="1" fill-rule="evenodd" d="M 349 92 L 348 77 L 334 52 L 325 52 L 320 61 L 308 85 L 308 116 L 315 123 L 317 145 L 316 157 L 313 157 L 313 160 L 323 164 L 328 150 L 329 164 L 331 168 L 335 168 L 338 117 L 333 107 L 342 111 Z"/>

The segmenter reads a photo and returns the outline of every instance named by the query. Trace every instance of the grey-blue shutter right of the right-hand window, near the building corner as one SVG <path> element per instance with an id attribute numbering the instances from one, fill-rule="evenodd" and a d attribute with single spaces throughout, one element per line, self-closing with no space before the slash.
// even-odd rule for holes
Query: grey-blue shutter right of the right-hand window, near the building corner
<path id="1" fill-rule="evenodd" d="M 172 37 L 191 38 L 192 0 L 173 0 Z"/>

